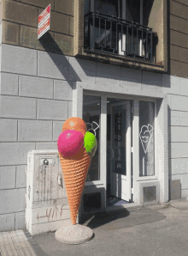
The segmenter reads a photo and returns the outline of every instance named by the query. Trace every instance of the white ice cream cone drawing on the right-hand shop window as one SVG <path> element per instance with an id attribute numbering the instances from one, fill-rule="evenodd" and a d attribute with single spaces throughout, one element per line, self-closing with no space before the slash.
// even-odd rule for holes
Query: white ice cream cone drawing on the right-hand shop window
<path id="1" fill-rule="evenodd" d="M 143 125 L 141 127 L 140 133 L 139 133 L 139 137 L 140 137 L 140 141 L 143 145 L 143 149 L 144 149 L 144 153 L 146 154 L 147 149 L 148 149 L 148 145 L 150 142 L 150 137 L 153 136 L 153 127 L 151 125 Z"/>

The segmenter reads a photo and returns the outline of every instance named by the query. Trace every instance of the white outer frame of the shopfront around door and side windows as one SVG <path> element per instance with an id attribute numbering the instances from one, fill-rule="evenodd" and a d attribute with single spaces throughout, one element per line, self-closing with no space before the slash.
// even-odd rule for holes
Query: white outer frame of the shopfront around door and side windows
<path id="1" fill-rule="evenodd" d="M 157 180 L 158 175 L 160 174 L 159 170 L 159 164 L 157 163 L 157 159 L 160 155 L 159 152 L 157 152 L 157 149 L 159 147 L 158 142 L 156 140 L 157 136 L 161 136 L 159 134 L 159 123 L 161 123 L 161 120 L 158 120 L 157 114 L 156 114 L 156 109 L 157 109 L 157 100 L 152 98 L 152 96 L 145 96 L 145 95 L 129 95 L 129 94 L 109 94 L 108 92 L 101 92 L 101 91 L 91 91 L 91 90 L 85 90 L 83 92 L 85 95 L 93 95 L 93 96 L 100 96 L 101 97 L 101 122 L 103 124 L 107 124 L 107 98 L 115 98 L 115 99 L 120 99 L 120 100 L 125 100 L 125 101 L 132 101 L 132 202 L 138 203 L 139 202 L 139 195 L 138 195 L 138 183 L 139 181 L 152 181 L 152 180 Z M 147 94 L 147 93 L 146 93 Z M 144 177 L 139 177 L 138 170 L 139 170 L 139 165 L 138 165 L 138 157 L 139 157 L 139 149 L 138 149 L 138 136 L 139 136 L 139 101 L 152 101 L 155 102 L 155 176 L 144 176 Z M 165 104 L 167 104 L 165 102 Z M 82 101 L 81 101 L 81 106 L 82 106 Z M 103 109 L 103 110 L 102 110 Z M 102 123 L 101 123 L 102 124 Z M 106 126 L 105 126 L 106 127 Z M 106 129 L 103 129 L 103 137 L 106 137 L 107 131 Z M 103 137 L 100 138 L 100 142 L 103 141 Z M 94 181 L 87 181 L 85 182 L 85 186 L 96 186 L 96 187 L 105 187 L 107 188 L 107 162 L 104 161 L 106 159 L 106 143 L 103 143 L 105 151 L 103 151 L 103 147 L 101 147 L 100 154 L 103 155 L 100 158 L 100 180 L 94 180 Z M 104 161 L 104 162 L 103 162 Z M 103 171 L 102 171 L 103 170 Z M 106 208 L 106 192 L 105 192 L 105 200 L 104 200 Z"/>

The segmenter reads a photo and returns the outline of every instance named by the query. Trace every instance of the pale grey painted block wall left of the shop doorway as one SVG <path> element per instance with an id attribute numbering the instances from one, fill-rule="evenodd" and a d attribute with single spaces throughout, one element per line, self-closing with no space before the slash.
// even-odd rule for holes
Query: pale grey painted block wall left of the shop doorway
<path id="1" fill-rule="evenodd" d="M 69 57 L 1 44 L 0 231 L 25 225 L 27 152 L 56 149 L 72 116 Z"/>

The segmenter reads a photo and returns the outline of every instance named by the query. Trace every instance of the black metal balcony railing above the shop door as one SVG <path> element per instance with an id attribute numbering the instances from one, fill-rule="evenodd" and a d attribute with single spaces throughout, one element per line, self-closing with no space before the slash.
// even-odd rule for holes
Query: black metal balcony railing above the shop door
<path id="1" fill-rule="evenodd" d="M 152 28 L 93 11 L 85 15 L 85 49 L 154 63 Z"/>

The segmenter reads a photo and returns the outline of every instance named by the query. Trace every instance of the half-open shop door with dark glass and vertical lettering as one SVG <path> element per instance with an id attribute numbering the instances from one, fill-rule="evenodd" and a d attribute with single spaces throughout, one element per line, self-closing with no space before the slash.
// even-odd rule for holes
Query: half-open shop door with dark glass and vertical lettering
<path id="1" fill-rule="evenodd" d="M 131 101 L 108 99 L 107 198 L 132 201 Z"/>

